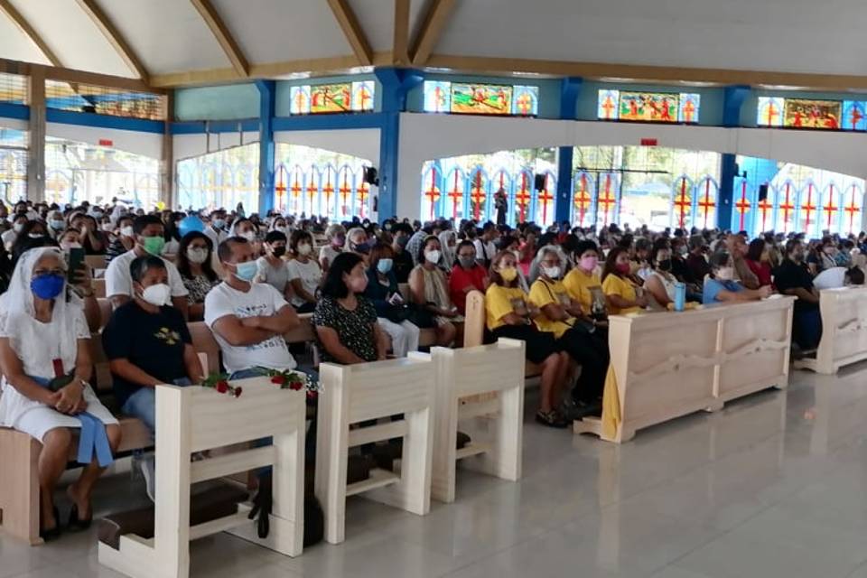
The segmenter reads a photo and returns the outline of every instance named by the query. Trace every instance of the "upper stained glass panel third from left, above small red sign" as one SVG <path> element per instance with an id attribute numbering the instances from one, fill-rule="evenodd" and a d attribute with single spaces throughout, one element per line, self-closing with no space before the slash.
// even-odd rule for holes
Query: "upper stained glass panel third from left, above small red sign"
<path id="1" fill-rule="evenodd" d="M 601 120 L 695 124 L 701 101 L 701 95 L 694 93 L 604 89 L 599 91 L 596 116 Z"/>

